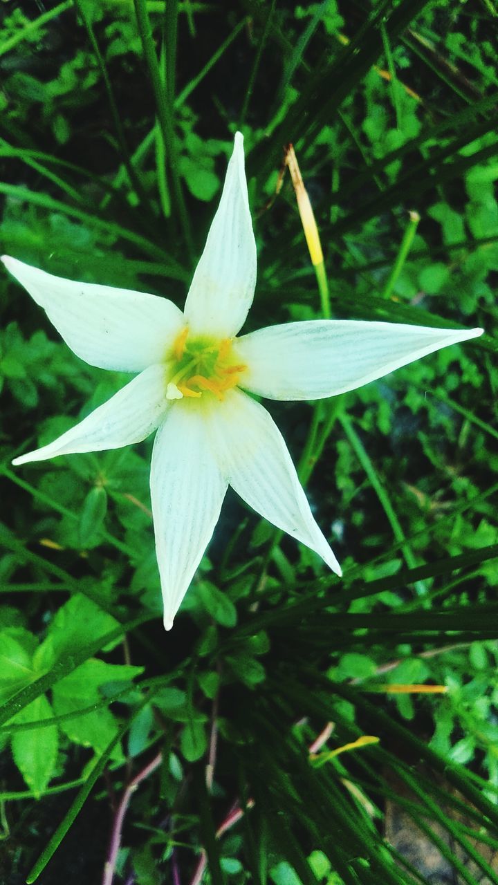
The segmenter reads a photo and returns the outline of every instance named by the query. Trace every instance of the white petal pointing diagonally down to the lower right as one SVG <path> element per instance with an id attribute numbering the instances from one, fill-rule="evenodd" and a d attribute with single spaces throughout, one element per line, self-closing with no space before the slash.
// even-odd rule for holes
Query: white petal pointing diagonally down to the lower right
<path id="1" fill-rule="evenodd" d="M 214 450 L 230 486 L 255 511 L 340 566 L 313 518 L 284 437 L 267 410 L 240 390 L 230 391 L 210 414 Z"/>

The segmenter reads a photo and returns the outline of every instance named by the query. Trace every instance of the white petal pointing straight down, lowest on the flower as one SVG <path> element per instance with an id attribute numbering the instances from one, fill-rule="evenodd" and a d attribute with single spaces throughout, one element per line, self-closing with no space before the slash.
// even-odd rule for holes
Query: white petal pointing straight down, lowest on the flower
<path id="1" fill-rule="evenodd" d="M 197 406 L 175 402 L 152 451 L 152 512 L 167 630 L 213 535 L 228 486 Z"/>

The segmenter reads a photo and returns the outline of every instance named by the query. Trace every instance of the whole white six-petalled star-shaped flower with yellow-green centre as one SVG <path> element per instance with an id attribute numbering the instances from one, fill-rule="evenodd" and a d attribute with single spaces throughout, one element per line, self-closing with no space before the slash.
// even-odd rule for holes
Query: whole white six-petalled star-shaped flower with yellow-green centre
<path id="1" fill-rule="evenodd" d="M 237 337 L 256 281 L 240 133 L 183 313 L 165 298 L 63 280 L 15 258 L 3 261 L 78 357 L 102 369 L 138 373 L 53 443 L 12 463 L 116 449 L 157 430 L 151 495 L 167 630 L 229 485 L 341 573 L 280 431 L 250 394 L 334 396 L 482 333 L 318 319 Z"/>

